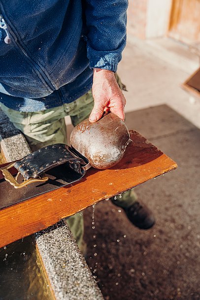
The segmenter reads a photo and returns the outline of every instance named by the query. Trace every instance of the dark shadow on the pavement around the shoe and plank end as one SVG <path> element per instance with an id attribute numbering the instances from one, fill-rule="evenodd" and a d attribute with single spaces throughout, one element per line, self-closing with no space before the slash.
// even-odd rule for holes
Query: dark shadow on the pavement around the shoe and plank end
<path id="1" fill-rule="evenodd" d="M 97 204 L 92 229 L 86 209 L 87 263 L 105 300 L 199 300 L 200 130 L 167 105 L 127 113 L 126 123 L 178 169 L 135 188 L 156 217 L 148 231 L 110 201 Z"/>

